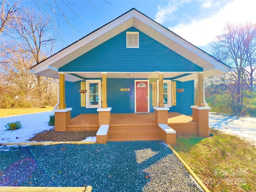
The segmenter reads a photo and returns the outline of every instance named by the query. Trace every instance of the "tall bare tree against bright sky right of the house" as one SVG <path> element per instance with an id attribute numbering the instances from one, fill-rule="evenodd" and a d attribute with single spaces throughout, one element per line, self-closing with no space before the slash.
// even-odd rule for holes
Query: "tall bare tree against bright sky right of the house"
<path id="1" fill-rule="evenodd" d="M 217 36 L 217 40 L 212 44 L 214 56 L 234 68 L 234 72 L 230 75 L 235 82 L 230 88 L 236 91 L 233 95 L 236 113 L 242 110 L 244 89 L 250 87 L 251 91 L 255 90 L 253 84 L 256 65 L 255 41 L 256 24 L 251 22 L 237 25 L 226 23 L 223 34 Z"/>

